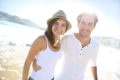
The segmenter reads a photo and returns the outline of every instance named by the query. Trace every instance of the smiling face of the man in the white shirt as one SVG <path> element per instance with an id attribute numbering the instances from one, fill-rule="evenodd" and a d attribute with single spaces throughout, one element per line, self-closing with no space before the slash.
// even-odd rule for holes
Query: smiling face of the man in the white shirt
<path id="1" fill-rule="evenodd" d="M 89 37 L 94 29 L 94 16 L 83 15 L 78 23 L 79 34 L 81 37 Z"/>

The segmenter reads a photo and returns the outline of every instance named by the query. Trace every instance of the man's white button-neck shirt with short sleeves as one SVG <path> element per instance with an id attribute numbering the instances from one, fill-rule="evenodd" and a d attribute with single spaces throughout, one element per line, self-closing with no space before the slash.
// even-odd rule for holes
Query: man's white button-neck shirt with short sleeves
<path id="1" fill-rule="evenodd" d="M 90 43 L 82 48 L 74 34 L 64 36 L 61 44 L 63 64 L 61 71 L 56 72 L 55 80 L 84 80 L 88 62 L 92 60 L 92 66 L 96 66 L 99 44 L 91 38 Z"/>

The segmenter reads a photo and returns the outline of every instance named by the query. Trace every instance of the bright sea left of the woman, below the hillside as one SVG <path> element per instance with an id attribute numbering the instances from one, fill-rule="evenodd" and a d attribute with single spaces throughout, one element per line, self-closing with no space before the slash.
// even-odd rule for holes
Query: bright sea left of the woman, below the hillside
<path id="1" fill-rule="evenodd" d="M 44 34 L 43 29 L 0 20 L 0 42 L 2 43 L 31 44 L 42 34 Z"/>

